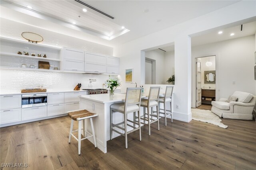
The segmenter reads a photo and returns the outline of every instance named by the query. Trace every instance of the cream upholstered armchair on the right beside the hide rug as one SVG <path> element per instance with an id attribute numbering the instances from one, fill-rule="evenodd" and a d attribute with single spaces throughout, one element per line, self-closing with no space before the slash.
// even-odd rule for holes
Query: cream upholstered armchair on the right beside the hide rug
<path id="1" fill-rule="evenodd" d="M 212 113 L 224 119 L 252 120 L 252 111 L 256 104 L 256 96 L 246 92 L 234 92 L 232 96 L 237 102 L 226 102 L 228 99 L 212 101 Z"/>

